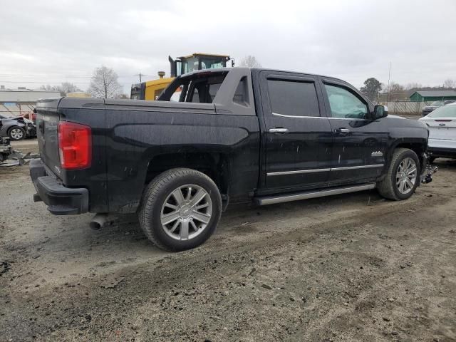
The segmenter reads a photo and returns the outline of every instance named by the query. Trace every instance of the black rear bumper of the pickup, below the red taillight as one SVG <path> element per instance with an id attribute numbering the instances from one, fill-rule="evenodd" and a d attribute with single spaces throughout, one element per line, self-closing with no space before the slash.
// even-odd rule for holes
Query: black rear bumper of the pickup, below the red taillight
<path id="1" fill-rule="evenodd" d="M 88 190 L 64 187 L 51 171 L 46 170 L 41 159 L 31 160 L 30 177 L 37 192 L 33 200 L 42 200 L 52 214 L 72 215 L 88 212 Z"/>

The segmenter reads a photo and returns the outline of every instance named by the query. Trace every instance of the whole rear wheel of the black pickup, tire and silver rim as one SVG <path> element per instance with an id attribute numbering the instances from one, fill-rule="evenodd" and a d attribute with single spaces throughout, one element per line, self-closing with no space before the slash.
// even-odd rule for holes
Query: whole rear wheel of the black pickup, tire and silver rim
<path id="1" fill-rule="evenodd" d="M 177 252 L 209 239 L 221 213 L 217 185 L 202 172 L 179 168 L 163 172 L 147 185 L 139 219 L 157 247 Z"/>

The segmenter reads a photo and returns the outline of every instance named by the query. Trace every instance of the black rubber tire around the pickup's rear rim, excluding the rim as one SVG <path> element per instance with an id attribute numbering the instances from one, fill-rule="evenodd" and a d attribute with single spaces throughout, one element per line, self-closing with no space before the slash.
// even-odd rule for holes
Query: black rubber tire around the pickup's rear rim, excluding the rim
<path id="1" fill-rule="evenodd" d="M 173 239 L 165 232 L 160 215 L 165 201 L 173 191 L 184 185 L 197 185 L 212 201 L 212 214 L 206 227 L 197 236 L 185 240 Z M 222 197 L 217 185 L 197 170 L 176 168 L 162 172 L 147 185 L 142 194 L 138 218 L 145 235 L 160 249 L 179 252 L 203 244 L 214 233 L 222 214 Z"/>

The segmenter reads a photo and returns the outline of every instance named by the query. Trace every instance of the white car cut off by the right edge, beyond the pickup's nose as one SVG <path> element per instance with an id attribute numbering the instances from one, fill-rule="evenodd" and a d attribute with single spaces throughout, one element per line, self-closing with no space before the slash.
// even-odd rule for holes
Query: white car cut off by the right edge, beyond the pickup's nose
<path id="1" fill-rule="evenodd" d="M 456 158 L 456 103 L 442 105 L 420 121 L 429 127 L 430 162 L 438 157 Z"/>

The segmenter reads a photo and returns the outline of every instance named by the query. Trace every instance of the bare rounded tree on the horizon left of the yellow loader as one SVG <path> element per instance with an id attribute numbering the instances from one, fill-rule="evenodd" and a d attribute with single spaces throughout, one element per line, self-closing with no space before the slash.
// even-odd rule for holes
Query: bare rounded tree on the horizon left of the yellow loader
<path id="1" fill-rule="evenodd" d="M 122 86 L 117 80 L 117 73 L 113 69 L 105 66 L 95 68 L 88 92 L 94 98 L 118 98 L 122 94 Z"/>

